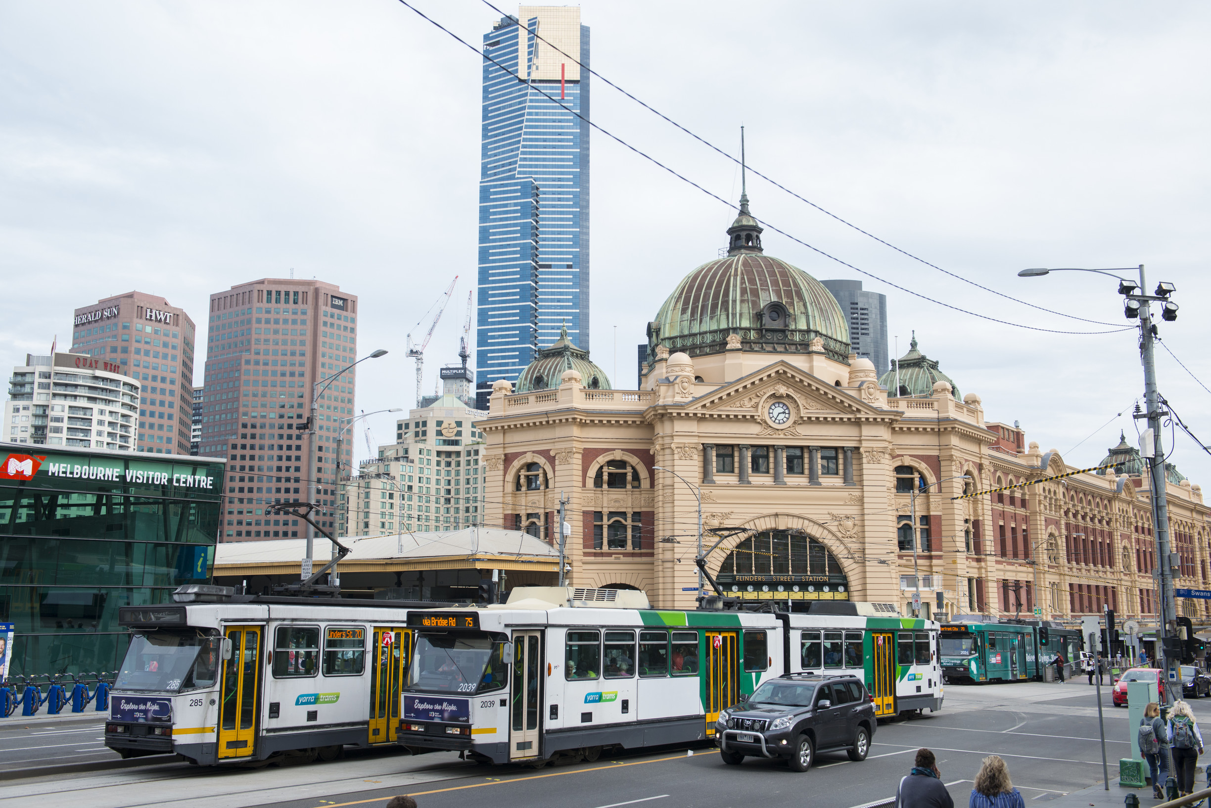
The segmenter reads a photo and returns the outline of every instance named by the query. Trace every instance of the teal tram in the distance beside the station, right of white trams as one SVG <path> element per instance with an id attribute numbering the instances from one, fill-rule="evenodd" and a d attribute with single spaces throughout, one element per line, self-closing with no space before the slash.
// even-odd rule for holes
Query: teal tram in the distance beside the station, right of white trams
<path id="1" fill-rule="evenodd" d="M 942 678 L 955 683 L 1043 681 L 1056 654 L 1071 663 L 1080 658 L 1080 631 L 1054 620 L 946 623 L 941 626 Z"/>

